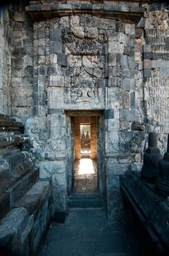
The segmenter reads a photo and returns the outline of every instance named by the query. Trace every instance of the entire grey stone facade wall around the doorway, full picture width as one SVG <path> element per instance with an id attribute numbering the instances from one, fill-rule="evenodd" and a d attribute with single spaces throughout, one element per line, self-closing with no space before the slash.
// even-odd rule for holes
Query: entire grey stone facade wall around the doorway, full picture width
<path id="1" fill-rule="evenodd" d="M 117 218 L 119 176 L 141 170 L 150 131 L 165 151 L 168 4 L 22 2 L 11 9 L 12 116 L 25 123 L 40 178 L 52 179 L 53 216 L 67 210 L 71 190 L 74 138 L 66 110 L 101 110 L 101 190 L 109 217 Z"/>

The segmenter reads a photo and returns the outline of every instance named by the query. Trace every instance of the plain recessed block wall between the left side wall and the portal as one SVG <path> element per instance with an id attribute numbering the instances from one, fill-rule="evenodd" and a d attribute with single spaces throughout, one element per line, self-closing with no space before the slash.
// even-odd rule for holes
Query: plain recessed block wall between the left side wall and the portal
<path id="1" fill-rule="evenodd" d="M 26 1 L 9 5 L 12 16 L 11 111 L 12 116 L 23 123 L 33 115 L 34 106 L 33 23 L 25 13 L 25 5 Z"/>

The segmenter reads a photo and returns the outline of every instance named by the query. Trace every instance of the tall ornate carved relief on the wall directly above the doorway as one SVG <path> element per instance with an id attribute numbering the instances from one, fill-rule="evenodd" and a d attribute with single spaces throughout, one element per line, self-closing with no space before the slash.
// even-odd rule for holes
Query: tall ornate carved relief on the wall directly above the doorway
<path id="1" fill-rule="evenodd" d="M 64 102 L 103 103 L 105 92 L 98 88 L 96 78 L 103 78 L 105 72 L 105 56 L 101 55 L 103 42 L 106 42 L 105 31 L 80 26 L 79 15 L 72 15 L 70 29 L 63 31 L 63 42 L 68 67 L 74 67 L 71 78 L 65 78 Z"/>

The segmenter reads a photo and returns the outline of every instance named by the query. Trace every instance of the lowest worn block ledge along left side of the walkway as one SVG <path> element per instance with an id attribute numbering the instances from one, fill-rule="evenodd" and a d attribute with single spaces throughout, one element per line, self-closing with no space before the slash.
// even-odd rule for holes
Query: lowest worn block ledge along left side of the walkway
<path id="1" fill-rule="evenodd" d="M 51 218 L 50 181 L 37 181 L 1 219 L 0 250 L 4 255 L 34 255 Z M 28 197 L 29 198 L 28 198 Z"/>

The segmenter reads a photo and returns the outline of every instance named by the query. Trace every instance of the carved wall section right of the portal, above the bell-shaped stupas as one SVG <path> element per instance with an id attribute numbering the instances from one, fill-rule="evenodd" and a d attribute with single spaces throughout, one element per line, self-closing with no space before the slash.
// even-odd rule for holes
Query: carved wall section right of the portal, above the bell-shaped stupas
<path id="1" fill-rule="evenodd" d="M 168 134 L 168 9 L 167 3 L 146 4 L 135 34 L 135 59 L 143 89 L 142 121 L 145 132 L 158 134 L 162 153 Z"/>

